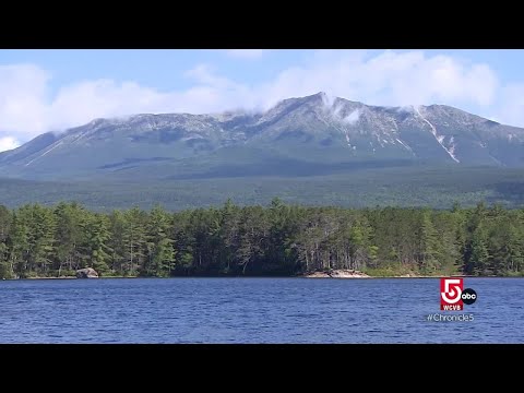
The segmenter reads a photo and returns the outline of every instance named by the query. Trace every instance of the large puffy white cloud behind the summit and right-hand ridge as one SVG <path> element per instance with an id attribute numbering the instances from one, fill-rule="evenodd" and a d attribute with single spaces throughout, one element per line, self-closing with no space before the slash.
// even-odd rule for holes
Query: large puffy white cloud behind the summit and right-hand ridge
<path id="1" fill-rule="evenodd" d="M 384 51 L 366 58 L 342 55 L 309 68 L 289 68 L 267 86 L 267 95 L 329 94 L 371 105 L 404 106 L 453 103 L 487 106 L 499 82 L 486 64 L 465 64 L 422 51 Z"/>

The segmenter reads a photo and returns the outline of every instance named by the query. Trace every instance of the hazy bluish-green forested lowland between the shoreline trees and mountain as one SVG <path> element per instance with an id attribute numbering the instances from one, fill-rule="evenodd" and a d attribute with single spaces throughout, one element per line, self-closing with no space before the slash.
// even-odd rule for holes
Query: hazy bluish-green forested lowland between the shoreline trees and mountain
<path id="1" fill-rule="evenodd" d="M 355 169 L 322 176 L 251 176 L 200 179 L 150 179 L 147 174 L 126 181 L 110 178 L 72 182 L 0 178 L 0 204 L 17 209 L 38 202 L 56 205 L 76 201 L 110 213 L 158 202 L 166 210 L 219 206 L 227 199 L 242 206 L 267 205 L 274 196 L 287 204 L 309 206 L 475 207 L 479 201 L 505 207 L 524 205 L 524 169 L 496 167 L 406 167 Z"/>

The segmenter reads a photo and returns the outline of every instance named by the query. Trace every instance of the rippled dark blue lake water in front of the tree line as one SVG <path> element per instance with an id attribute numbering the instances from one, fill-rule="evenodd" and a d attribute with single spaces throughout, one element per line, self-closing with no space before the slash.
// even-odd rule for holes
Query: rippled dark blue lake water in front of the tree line
<path id="1" fill-rule="evenodd" d="M 524 279 L 464 286 L 457 312 L 433 278 L 3 281 L 0 343 L 524 343 Z"/>

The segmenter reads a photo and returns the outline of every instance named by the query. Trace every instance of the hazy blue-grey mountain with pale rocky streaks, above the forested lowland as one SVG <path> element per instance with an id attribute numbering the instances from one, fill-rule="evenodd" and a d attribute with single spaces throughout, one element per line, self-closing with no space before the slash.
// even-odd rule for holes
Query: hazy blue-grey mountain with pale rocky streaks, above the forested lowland
<path id="1" fill-rule="evenodd" d="M 294 177 L 406 166 L 524 168 L 524 129 L 444 105 L 379 107 L 319 93 L 259 114 L 96 119 L 0 153 L 0 176 L 35 180 Z"/>

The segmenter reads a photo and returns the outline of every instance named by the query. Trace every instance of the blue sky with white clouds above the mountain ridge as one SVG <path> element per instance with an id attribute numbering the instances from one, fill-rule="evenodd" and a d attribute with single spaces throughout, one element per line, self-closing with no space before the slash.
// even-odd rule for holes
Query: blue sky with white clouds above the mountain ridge
<path id="1" fill-rule="evenodd" d="M 264 110 L 314 94 L 446 104 L 524 127 L 524 50 L 0 50 L 0 150 L 136 112 Z"/>

